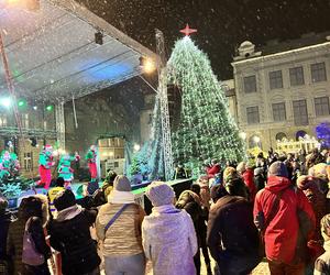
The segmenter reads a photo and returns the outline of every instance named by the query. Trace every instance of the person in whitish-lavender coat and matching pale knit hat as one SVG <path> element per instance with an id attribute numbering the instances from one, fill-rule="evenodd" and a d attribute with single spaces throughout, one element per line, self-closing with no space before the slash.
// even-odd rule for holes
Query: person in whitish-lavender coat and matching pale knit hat
<path id="1" fill-rule="evenodd" d="M 175 208 L 175 193 L 166 183 L 152 183 L 146 196 L 153 210 L 143 220 L 142 243 L 153 274 L 196 274 L 194 255 L 198 244 L 190 216 Z"/>

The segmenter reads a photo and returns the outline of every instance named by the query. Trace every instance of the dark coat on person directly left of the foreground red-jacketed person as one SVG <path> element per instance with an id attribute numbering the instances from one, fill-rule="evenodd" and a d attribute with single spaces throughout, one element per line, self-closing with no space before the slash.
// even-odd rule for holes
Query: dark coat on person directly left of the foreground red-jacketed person
<path id="1" fill-rule="evenodd" d="M 209 213 L 207 243 L 221 274 L 249 274 L 261 261 L 252 204 L 227 195 Z"/>

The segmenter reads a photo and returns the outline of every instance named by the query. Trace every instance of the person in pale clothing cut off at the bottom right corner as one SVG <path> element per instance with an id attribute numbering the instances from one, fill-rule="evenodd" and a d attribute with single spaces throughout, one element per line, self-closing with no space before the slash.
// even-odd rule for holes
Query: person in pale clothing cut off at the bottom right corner
<path id="1" fill-rule="evenodd" d="M 330 274 L 330 213 L 326 215 L 320 222 L 322 237 L 324 240 L 324 253 L 315 263 L 315 275 Z"/>

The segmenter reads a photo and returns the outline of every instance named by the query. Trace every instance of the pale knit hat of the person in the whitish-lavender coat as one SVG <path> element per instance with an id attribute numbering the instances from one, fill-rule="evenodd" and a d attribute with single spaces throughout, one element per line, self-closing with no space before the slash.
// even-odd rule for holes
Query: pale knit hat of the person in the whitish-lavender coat
<path id="1" fill-rule="evenodd" d="M 148 185 L 145 194 L 154 207 L 173 205 L 173 199 L 175 197 L 173 188 L 162 182 L 154 182 Z"/>

